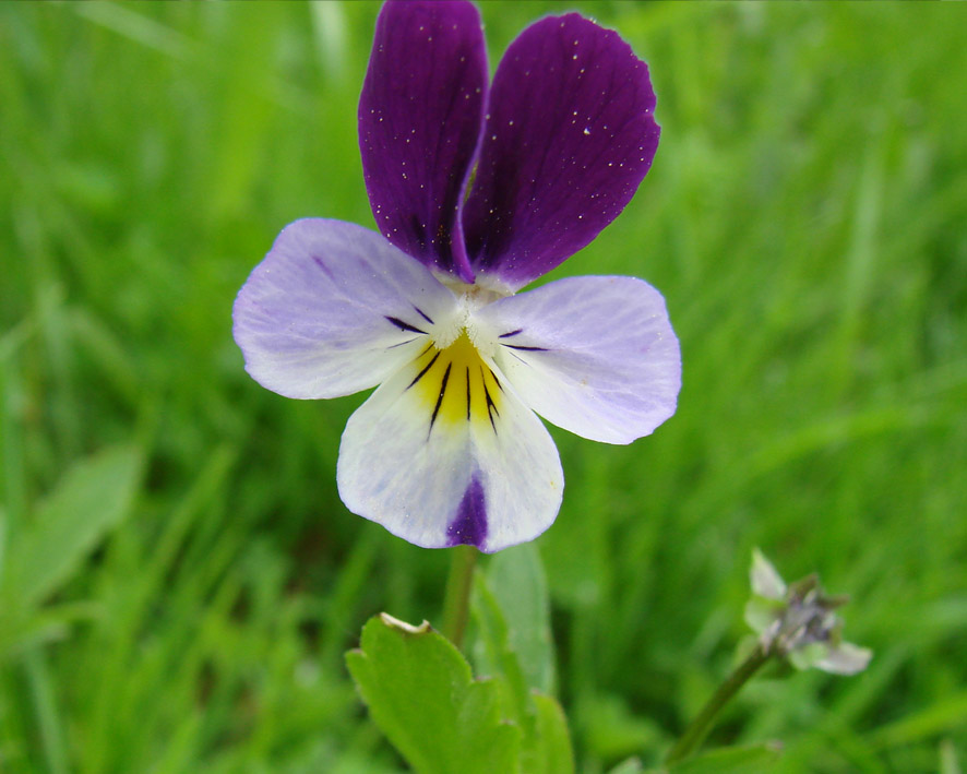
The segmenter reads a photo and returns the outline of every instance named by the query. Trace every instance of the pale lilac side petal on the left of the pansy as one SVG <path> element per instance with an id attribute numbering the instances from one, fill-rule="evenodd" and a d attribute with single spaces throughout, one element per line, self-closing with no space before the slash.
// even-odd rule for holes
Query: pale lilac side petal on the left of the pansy
<path id="1" fill-rule="evenodd" d="M 246 370 L 286 397 L 379 384 L 454 313 L 453 294 L 379 234 L 341 221 L 286 226 L 232 309 Z"/>

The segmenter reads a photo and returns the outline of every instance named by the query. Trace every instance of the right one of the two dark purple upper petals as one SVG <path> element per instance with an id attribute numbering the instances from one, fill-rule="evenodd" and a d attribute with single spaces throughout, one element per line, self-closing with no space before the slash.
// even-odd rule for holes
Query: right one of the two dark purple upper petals
<path id="1" fill-rule="evenodd" d="M 463 213 L 475 271 L 521 287 L 613 221 L 658 145 L 647 66 L 571 13 L 527 27 L 493 80 Z"/>

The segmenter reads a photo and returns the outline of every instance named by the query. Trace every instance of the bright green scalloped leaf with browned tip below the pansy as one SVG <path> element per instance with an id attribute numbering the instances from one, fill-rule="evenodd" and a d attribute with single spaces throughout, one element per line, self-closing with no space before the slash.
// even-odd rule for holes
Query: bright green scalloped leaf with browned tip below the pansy
<path id="1" fill-rule="evenodd" d="M 417 772 L 518 771 L 521 733 L 501 717 L 497 682 L 474 680 L 429 623 L 371 618 L 346 664 L 373 721 Z"/>

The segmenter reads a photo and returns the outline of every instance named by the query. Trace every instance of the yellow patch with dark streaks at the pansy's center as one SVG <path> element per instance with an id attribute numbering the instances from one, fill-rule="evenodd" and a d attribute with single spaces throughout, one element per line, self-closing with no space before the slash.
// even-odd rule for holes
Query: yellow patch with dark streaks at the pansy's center
<path id="1" fill-rule="evenodd" d="M 437 422 L 477 421 L 497 430 L 503 388 L 484 362 L 466 330 L 452 344 L 431 345 L 414 362 L 409 384 L 430 410 L 430 429 Z"/>

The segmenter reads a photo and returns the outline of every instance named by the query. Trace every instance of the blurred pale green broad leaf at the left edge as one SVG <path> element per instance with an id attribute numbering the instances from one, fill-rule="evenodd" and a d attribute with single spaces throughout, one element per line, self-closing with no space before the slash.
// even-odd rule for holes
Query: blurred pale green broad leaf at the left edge
<path id="1" fill-rule="evenodd" d="M 142 456 L 116 446 L 82 460 L 63 476 L 20 534 L 9 536 L 2 594 L 26 609 L 53 593 L 128 513 Z"/>

